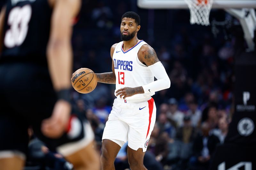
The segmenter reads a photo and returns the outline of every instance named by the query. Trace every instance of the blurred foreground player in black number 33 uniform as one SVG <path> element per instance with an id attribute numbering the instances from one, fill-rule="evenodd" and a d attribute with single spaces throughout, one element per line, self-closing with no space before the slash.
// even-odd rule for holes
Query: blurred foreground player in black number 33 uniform
<path id="1" fill-rule="evenodd" d="M 81 0 L 7 0 L 1 10 L 0 169 L 22 169 L 30 125 L 75 169 L 100 168 L 89 123 L 70 116 L 71 21 L 80 6 Z"/>

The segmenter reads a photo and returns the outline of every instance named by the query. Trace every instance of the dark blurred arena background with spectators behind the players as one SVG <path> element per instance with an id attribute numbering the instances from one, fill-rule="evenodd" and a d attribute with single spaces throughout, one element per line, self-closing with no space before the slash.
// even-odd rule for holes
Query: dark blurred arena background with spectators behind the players
<path id="1" fill-rule="evenodd" d="M 102 73 L 111 71 L 110 47 L 121 41 L 122 15 L 140 15 L 138 38 L 155 49 L 171 80 L 169 89 L 153 96 L 157 115 L 144 157 L 148 170 L 256 169 L 256 1 L 220 1 L 213 0 L 208 26 L 190 23 L 183 0 L 83 0 L 74 20 L 73 71 Z M 72 92 L 74 108 L 91 122 L 99 153 L 114 90 L 98 83 L 88 94 Z M 116 170 L 129 169 L 126 147 Z M 40 154 L 35 148 L 24 170 L 54 169 L 49 162 L 58 160 L 33 159 Z"/>

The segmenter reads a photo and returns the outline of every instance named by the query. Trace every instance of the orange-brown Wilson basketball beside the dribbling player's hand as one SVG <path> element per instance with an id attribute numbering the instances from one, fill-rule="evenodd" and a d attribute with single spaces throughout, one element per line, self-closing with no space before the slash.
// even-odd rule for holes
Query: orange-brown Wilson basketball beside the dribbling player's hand
<path id="1" fill-rule="evenodd" d="M 71 78 L 73 88 L 79 93 L 92 92 L 97 85 L 97 77 L 95 73 L 88 68 L 76 70 Z"/>

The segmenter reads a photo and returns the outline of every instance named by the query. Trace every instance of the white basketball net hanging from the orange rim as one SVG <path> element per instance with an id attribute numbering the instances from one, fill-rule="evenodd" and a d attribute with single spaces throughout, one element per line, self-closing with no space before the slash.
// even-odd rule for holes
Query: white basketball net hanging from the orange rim
<path id="1" fill-rule="evenodd" d="M 213 0 L 185 0 L 190 10 L 190 23 L 210 25 L 209 15 Z"/>

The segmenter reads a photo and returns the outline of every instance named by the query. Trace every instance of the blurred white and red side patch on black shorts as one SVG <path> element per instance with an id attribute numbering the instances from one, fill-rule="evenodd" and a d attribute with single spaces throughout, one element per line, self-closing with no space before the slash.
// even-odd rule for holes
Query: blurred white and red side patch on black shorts
<path id="1" fill-rule="evenodd" d="M 71 117 L 70 120 L 70 129 L 68 130 L 67 136 L 70 139 L 75 139 L 79 137 L 79 135 L 82 133 L 82 123 L 79 121 L 77 117 Z"/>

